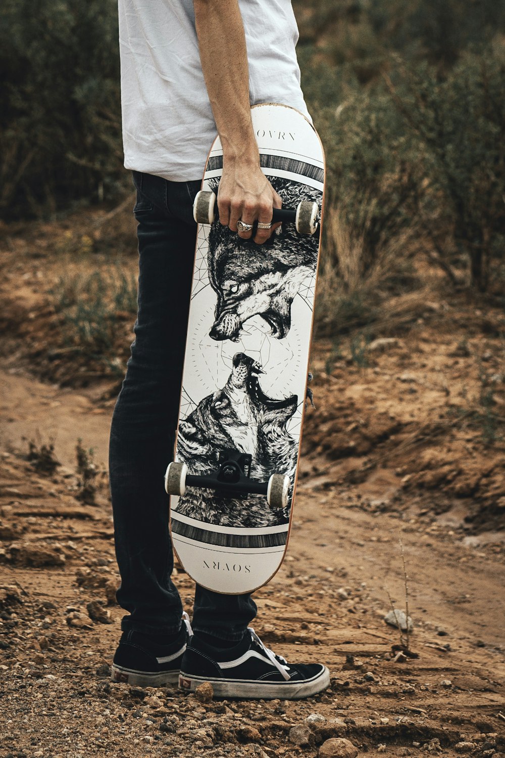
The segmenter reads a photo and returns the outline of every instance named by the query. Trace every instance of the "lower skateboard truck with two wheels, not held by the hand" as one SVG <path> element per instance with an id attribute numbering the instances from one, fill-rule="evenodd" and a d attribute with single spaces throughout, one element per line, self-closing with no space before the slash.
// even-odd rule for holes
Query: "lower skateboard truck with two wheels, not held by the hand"
<path id="1" fill-rule="evenodd" d="M 252 456 L 236 450 L 223 450 L 219 468 L 210 474 L 190 474 L 185 463 L 173 462 L 165 474 L 165 490 L 169 495 L 182 496 L 186 487 L 216 490 L 228 498 L 242 499 L 251 494 L 264 495 L 272 508 L 288 504 L 289 477 L 273 474 L 268 481 L 251 479 Z"/>

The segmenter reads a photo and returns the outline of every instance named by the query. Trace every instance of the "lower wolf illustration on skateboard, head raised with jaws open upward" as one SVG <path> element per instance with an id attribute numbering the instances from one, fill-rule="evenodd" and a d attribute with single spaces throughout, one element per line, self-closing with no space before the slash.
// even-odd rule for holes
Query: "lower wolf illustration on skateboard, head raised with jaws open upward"
<path id="1" fill-rule="evenodd" d="M 286 423 L 295 413 L 298 397 L 268 397 L 258 380 L 262 373 L 259 363 L 238 352 L 223 389 L 204 397 L 179 423 L 177 457 L 192 474 L 209 474 L 217 468 L 221 451 L 236 449 L 253 456 L 251 478 L 268 481 L 273 472 L 293 478 L 298 440 L 288 434 Z M 290 507 L 291 497 L 288 503 Z M 210 524 L 254 528 L 287 523 L 289 507 L 285 512 L 269 509 L 260 495 L 230 500 L 214 490 L 189 487 L 176 509 Z"/>

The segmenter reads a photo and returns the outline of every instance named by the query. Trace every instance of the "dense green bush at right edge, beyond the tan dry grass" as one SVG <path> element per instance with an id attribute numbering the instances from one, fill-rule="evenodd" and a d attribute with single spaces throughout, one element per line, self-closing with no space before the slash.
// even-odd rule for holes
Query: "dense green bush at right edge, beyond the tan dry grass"
<path id="1" fill-rule="evenodd" d="M 426 64 L 407 70 L 392 93 L 426 155 L 424 225 L 450 229 L 441 257 L 468 262 L 485 292 L 505 258 L 505 51 L 468 53 L 444 80 Z"/>

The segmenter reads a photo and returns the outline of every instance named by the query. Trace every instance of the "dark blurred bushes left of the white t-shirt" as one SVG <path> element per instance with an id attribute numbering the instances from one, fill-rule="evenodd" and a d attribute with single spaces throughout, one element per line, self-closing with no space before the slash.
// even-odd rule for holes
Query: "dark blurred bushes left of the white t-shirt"
<path id="1" fill-rule="evenodd" d="M 4 0 L 0 214 L 43 215 L 123 182 L 117 3 Z"/>

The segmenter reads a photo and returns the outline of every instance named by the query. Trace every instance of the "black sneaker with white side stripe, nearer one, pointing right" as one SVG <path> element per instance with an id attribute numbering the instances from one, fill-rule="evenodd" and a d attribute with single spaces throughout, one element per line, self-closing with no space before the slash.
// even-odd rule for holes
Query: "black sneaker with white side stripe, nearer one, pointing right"
<path id="1" fill-rule="evenodd" d="M 263 645 L 251 627 L 235 647 L 210 647 L 191 637 L 182 657 L 179 687 L 195 691 L 209 681 L 215 697 L 296 700 L 329 685 L 329 670 L 320 663 L 289 666 Z"/>

